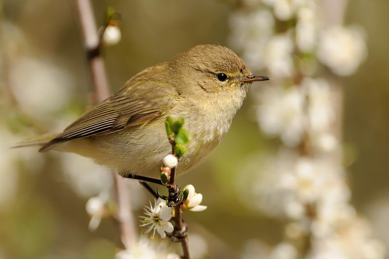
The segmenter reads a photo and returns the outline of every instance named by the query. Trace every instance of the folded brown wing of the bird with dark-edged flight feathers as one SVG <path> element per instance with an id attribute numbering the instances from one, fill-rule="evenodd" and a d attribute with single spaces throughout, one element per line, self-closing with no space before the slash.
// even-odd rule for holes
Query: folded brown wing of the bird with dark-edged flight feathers
<path id="1" fill-rule="evenodd" d="M 130 126 L 141 125 L 169 111 L 178 95 L 173 87 L 161 86 L 147 76 L 134 77 L 119 92 L 94 106 L 61 134 L 39 150 L 50 150 L 54 144 L 75 138 L 108 134 Z"/>

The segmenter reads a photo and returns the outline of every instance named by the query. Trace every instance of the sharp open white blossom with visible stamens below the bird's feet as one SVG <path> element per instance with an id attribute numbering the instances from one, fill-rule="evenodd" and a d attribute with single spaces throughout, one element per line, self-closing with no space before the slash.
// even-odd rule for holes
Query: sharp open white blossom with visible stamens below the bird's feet
<path id="1" fill-rule="evenodd" d="M 149 201 L 149 204 L 150 207 L 143 207 L 146 216 L 140 216 L 143 219 L 141 227 L 147 226 L 144 234 L 149 234 L 153 230 L 151 239 L 154 239 L 156 231 L 161 238 L 165 238 L 166 233 L 173 231 L 173 224 L 169 222 L 172 218 L 172 208 L 168 207 L 161 198 L 154 201 L 154 206 L 151 205 L 151 201 Z"/>

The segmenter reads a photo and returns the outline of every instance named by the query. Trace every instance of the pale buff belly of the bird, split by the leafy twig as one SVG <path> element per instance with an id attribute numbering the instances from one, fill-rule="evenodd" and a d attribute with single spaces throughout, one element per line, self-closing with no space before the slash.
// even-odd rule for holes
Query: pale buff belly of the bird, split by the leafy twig
<path id="1" fill-rule="evenodd" d="M 188 152 L 180 158 L 177 174 L 186 173 L 203 161 L 227 132 L 230 123 L 184 124 L 191 133 Z M 70 140 L 58 150 L 91 157 L 96 163 L 117 169 L 121 175 L 137 174 L 158 178 L 162 158 L 171 154 L 164 122 L 145 124 L 105 135 Z M 75 147 L 77 149 L 75 149 Z"/>

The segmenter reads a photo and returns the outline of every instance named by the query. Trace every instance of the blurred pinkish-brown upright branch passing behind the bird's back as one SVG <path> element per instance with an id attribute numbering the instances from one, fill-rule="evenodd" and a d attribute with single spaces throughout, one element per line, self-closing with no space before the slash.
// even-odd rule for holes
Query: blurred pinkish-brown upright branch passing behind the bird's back
<path id="1" fill-rule="evenodd" d="M 88 64 L 94 87 L 94 100 L 101 102 L 109 97 L 108 80 L 103 58 L 100 56 L 100 37 L 89 0 L 75 0 L 84 36 Z M 128 186 L 117 172 L 112 173 L 115 183 L 115 198 L 118 206 L 116 220 L 119 224 L 121 240 L 126 249 L 135 242 L 134 219 L 131 213 Z"/>

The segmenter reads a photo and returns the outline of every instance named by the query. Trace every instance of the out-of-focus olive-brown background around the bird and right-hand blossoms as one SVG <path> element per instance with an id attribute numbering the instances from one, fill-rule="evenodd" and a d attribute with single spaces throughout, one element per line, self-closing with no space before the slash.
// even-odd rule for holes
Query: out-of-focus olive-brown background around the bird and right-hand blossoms
<path id="1" fill-rule="evenodd" d="M 111 91 L 141 69 L 197 44 L 226 45 L 245 59 L 247 52 L 236 47 L 233 38 L 241 30 L 233 17 L 239 10 L 269 9 L 272 1 L 262 6 L 255 2 L 259 1 L 92 1 L 99 25 L 107 6 L 121 13 L 122 39 L 103 50 Z M 85 211 L 89 197 L 111 188 L 106 169 L 77 155 L 9 148 L 24 138 L 61 131 L 90 107 L 92 87 L 73 1 L 0 4 L 0 258 L 112 258 L 119 242 L 117 226 L 103 219 L 90 232 Z M 344 23 L 361 28 L 367 52 L 350 76 L 331 75 L 342 92 L 340 106 L 334 105 L 341 164 L 351 190 L 347 202 L 366 220 L 368 238 L 377 241 L 380 251 L 389 245 L 389 34 L 383 28 L 389 23 L 388 10 L 386 0 L 348 1 Z M 269 74 L 265 67 L 251 70 L 277 82 L 277 73 Z M 275 155 L 283 145 L 258 124 L 255 95 L 265 84 L 251 87 L 230 132 L 212 155 L 177 180 L 181 186 L 193 184 L 208 206 L 204 212 L 184 214 L 197 258 L 258 258 L 261 253 L 277 258 L 271 251 L 285 240 L 290 220 L 252 205 L 257 197 L 244 191 L 264 157 Z M 136 216 L 150 198 L 131 183 Z M 378 254 L 363 258 L 385 258 Z"/>

